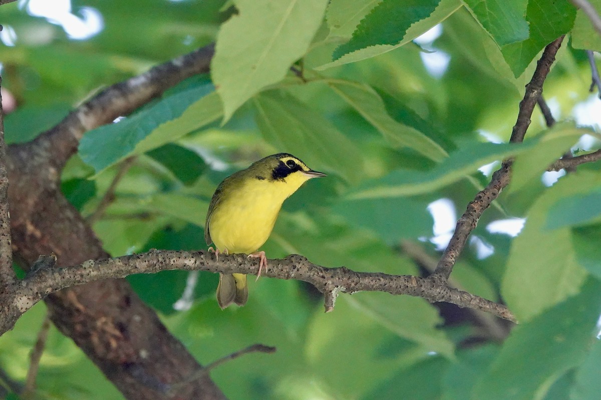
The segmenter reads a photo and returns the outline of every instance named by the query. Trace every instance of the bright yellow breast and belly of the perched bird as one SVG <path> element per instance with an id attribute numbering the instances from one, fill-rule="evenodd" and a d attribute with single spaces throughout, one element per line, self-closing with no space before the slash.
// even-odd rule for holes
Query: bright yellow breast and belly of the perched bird
<path id="1" fill-rule="evenodd" d="M 250 254 L 260 248 L 271 234 L 279 209 L 287 193 L 274 190 L 273 184 L 254 181 L 228 196 L 214 210 L 209 230 L 219 251 Z"/>

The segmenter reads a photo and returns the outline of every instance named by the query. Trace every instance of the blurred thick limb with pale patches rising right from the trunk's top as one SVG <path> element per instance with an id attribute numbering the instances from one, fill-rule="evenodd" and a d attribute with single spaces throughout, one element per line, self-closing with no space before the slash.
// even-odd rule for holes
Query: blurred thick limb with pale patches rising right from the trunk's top
<path id="1" fill-rule="evenodd" d="M 110 86 L 41 134 L 34 145 L 47 148 L 47 154 L 51 155 L 48 161 L 61 170 L 77 151 L 84 133 L 109 124 L 118 116 L 128 115 L 188 77 L 209 72 L 214 51 L 215 46 L 210 44 Z"/>

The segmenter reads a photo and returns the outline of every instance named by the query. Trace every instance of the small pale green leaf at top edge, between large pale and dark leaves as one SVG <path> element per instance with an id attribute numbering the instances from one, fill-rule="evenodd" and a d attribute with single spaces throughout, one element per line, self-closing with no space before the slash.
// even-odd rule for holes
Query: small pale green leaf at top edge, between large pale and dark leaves
<path id="1" fill-rule="evenodd" d="M 329 37 L 350 39 L 362 19 L 382 0 L 332 0 L 326 9 Z"/>

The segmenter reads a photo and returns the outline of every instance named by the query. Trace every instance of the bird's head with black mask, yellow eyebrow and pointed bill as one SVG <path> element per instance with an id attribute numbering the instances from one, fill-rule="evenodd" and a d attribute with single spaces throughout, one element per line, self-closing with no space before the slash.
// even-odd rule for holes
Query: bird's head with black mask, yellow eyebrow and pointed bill
<path id="1" fill-rule="evenodd" d="M 290 194 L 309 179 L 326 176 L 325 173 L 310 169 L 299 158 L 288 153 L 267 156 L 252 164 L 248 170 L 251 170 L 254 178 L 259 181 L 285 185 L 290 189 Z"/>

